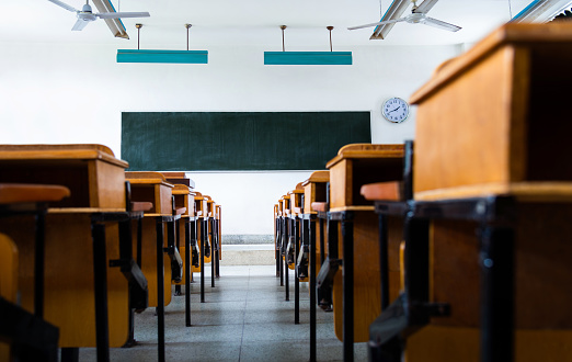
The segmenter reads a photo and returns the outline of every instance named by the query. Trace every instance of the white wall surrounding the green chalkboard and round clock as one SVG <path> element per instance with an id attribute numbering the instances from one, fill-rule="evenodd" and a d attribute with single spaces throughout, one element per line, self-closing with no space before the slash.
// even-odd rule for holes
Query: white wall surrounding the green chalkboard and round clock
<path id="1" fill-rule="evenodd" d="M 141 65 L 117 64 L 114 45 L 0 46 L 0 143 L 98 143 L 117 157 L 123 111 L 371 111 L 373 142 L 402 143 L 415 111 L 392 124 L 382 101 L 408 99 L 461 49 L 373 45 L 341 49 L 353 66 L 264 66 L 262 47 L 209 48 L 208 65 Z M 309 173 L 192 174 L 224 205 L 224 234 L 272 234 L 274 203 Z"/>

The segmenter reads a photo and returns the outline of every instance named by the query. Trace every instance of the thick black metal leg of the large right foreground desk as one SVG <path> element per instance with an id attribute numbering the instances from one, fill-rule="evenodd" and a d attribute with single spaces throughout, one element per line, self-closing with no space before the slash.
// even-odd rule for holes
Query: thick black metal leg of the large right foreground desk
<path id="1" fill-rule="evenodd" d="M 481 361 L 513 361 L 514 230 L 481 231 Z"/>

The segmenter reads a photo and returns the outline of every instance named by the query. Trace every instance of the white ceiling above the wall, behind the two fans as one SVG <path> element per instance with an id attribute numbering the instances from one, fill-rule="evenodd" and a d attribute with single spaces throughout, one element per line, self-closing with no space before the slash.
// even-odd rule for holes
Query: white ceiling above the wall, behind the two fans
<path id="1" fill-rule="evenodd" d="M 64 0 L 81 9 L 84 0 Z M 142 23 L 142 48 L 186 49 L 185 23 L 191 49 L 209 46 L 263 46 L 286 50 L 328 50 L 328 25 L 333 49 L 348 46 L 436 45 L 473 43 L 505 23 L 530 0 L 439 0 L 432 18 L 462 27 L 449 33 L 426 25 L 399 23 L 384 41 L 369 41 L 371 29 L 346 27 L 377 22 L 391 0 L 112 0 L 117 11 L 148 11 L 150 18 L 124 19 L 130 39 L 114 38 L 102 20 L 81 32 L 71 32 L 75 14 L 47 0 L 0 0 L 0 42 L 116 44 L 137 48 L 136 23 Z M 420 0 L 421 3 L 421 0 Z M 94 8 L 95 10 L 95 8 Z M 409 12 L 409 10 L 408 10 Z"/>

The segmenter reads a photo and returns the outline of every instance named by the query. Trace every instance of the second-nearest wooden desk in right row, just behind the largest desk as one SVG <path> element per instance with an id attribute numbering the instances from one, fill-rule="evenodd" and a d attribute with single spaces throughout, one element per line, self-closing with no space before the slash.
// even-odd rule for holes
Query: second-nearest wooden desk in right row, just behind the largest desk
<path id="1" fill-rule="evenodd" d="M 330 170 L 329 244 L 338 244 L 343 260 L 343 273 L 336 273 L 333 280 L 334 329 L 344 343 L 344 361 L 353 361 L 353 343 L 369 339 L 369 325 L 380 313 L 381 293 L 376 258 L 379 245 L 374 241 L 378 239 L 377 217 L 373 203 L 361 196 L 359 189 L 366 183 L 401 180 L 403 145 L 346 145 L 327 168 Z M 336 236 L 339 228 L 341 240 Z M 401 240 L 390 239 L 391 249 L 399 250 Z M 354 269 L 355 260 L 359 268 Z M 399 272 L 390 278 L 399 280 Z"/>

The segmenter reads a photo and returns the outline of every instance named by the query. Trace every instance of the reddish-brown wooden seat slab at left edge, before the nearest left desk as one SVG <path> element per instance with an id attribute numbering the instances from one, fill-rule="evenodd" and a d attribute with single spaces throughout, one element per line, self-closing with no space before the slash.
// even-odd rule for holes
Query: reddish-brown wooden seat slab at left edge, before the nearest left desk
<path id="1" fill-rule="evenodd" d="M 69 194 L 60 185 L 0 183 L 0 204 L 60 201 Z"/>

